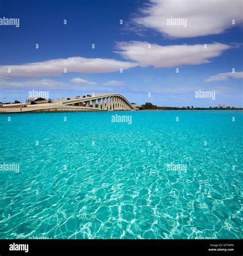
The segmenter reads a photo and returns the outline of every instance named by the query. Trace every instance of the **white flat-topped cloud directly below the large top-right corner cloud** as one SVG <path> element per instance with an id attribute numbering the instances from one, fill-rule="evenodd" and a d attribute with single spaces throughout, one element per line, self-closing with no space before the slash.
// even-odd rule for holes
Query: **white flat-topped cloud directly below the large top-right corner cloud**
<path id="1" fill-rule="evenodd" d="M 137 62 L 141 67 L 155 68 L 179 67 L 209 63 L 209 58 L 219 56 L 222 51 L 231 48 L 229 45 L 213 43 L 204 45 L 172 45 L 160 46 L 148 42 L 121 42 L 117 48 L 123 57 Z"/>

